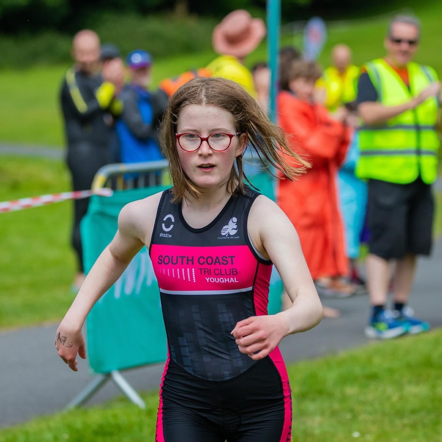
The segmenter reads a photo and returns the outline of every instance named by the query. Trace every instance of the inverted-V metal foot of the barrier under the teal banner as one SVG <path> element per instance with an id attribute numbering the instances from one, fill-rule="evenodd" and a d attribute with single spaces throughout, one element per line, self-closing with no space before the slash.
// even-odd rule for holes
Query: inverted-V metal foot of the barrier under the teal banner
<path id="1" fill-rule="evenodd" d="M 94 393 L 99 390 L 107 381 L 114 381 L 115 385 L 138 407 L 141 409 L 146 408 L 146 404 L 138 395 L 138 393 L 132 388 L 128 381 L 122 376 L 118 370 L 114 370 L 107 374 L 98 374 L 89 383 L 89 385 L 78 394 L 74 399 L 72 399 L 69 404 L 66 405 L 65 410 L 70 410 L 71 408 L 79 407 L 84 404 Z"/>

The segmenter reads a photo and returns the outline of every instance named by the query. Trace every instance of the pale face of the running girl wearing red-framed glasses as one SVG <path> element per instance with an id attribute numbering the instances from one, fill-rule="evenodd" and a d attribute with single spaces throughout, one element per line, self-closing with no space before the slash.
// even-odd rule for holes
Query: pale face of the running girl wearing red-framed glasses
<path id="1" fill-rule="evenodd" d="M 208 137 L 212 133 L 236 133 L 236 128 L 232 114 L 222 107 L 189 104 L 179 114 L 177 133 L 195 133 Z M 246 145 L 246 133 L 232 137 L 229 148 L 221 152 L 212 150 L 207 141 L 203 141 L 198 150 L 187 152 L 176 141 L 181 167 L 200 189 L 220 187 L 226 183 L 235 157 L 244 152 Z"/>

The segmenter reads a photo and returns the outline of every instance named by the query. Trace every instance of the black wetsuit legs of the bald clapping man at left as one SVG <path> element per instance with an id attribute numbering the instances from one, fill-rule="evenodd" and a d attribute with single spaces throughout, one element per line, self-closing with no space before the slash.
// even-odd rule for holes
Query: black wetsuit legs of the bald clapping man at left
<path id="1" fill-rule="evenodd" d="M 98 169 L 112 162 L 112 152 L 106 146 L 81 143 L 69 146 L 67 163 L 72 175 L 74 191 L 89 190 Z M 72 247 L 76 251 L 78 270 L 84 271 L 83 249 L 81 247 L 80 221 L 88 211 L 89 198 L 74 200 L 74 219 L 72 226 Z"/>

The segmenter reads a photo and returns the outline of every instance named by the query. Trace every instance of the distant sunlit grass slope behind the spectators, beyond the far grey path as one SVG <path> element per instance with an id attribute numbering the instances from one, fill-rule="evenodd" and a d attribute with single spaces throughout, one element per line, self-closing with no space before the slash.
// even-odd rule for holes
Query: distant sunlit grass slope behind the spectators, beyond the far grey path
<path id="1" fill-rule="evenodd" d="M 442 3 L 423 4 L 415 8 L 423 25 L 421 47 L 416 60 L 433 66 L 442 75 L 442 56 L 434 50 L 440 34 L 439 17 Z M 354 52 L 358 65 L 384 54 L 383 38 L 388 18 L 356 19 L 330 28 L 328 42 L 320 62 L 329 64 L 331 46 L 347 43 Z M 301 47 L 301 34 L 287 35 L 282 44 L 295 43 Z M 149 50 L 149 44 L 146 48 Z M 246 65 L 267 59 L 265 43 L 248 57 Z M 211 51 L 164 57 L 155 60 L 154 83 L 180 72 L 207 65 L 215 54 Z M 0 142 L 30 143 L 40 145 L 63 144 L 63 132 L 58 110 L 58 91 L 67 66 L 33 67 L 22 70 L 0 71 Z"/>

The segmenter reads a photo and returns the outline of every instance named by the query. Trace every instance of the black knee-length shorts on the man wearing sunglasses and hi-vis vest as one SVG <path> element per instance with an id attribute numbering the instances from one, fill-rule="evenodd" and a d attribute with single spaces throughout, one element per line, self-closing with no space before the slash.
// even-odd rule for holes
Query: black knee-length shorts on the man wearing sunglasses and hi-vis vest
<path id="1" fill-rule="evenodd" d="M 431 186 L 418 178 L 410 184 L 370 179 L 367 221 L 370 253 L 384 259 L 429 255 L 434 199 Z"/>

